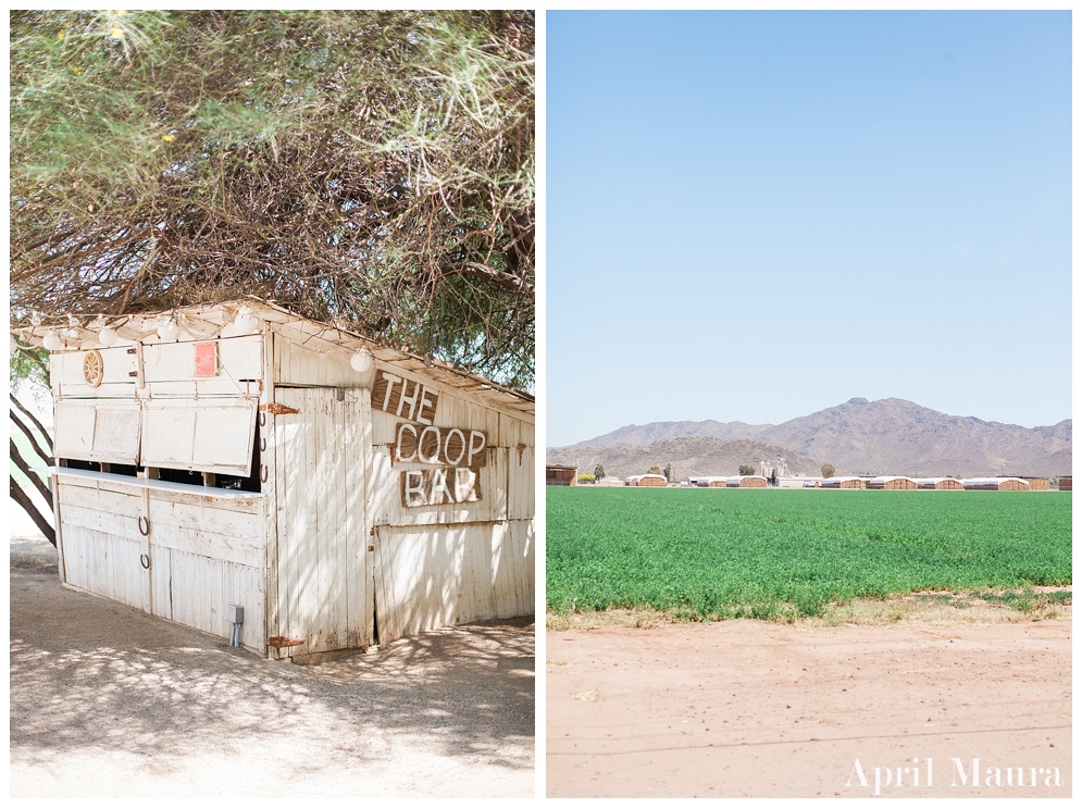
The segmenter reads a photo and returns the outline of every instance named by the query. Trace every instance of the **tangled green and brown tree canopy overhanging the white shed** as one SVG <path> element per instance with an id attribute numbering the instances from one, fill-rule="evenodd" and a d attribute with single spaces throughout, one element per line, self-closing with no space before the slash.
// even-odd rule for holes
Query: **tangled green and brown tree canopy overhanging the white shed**
<path id="1" fill-rule="evenodd" d="M 253 295 L 532 386 L 532 12 L 10 22 L 13 325 Z"/>

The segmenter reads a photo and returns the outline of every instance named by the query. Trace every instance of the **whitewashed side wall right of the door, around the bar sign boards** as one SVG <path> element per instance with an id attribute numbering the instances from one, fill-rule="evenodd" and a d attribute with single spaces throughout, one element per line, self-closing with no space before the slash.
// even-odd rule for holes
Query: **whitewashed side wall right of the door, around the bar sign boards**
<path id="1" fill-rule="evenodd" d="M 396 371 L 402 375 L 400 371 Z M 419 380 L 420 381 L 420 380 Z M 487 434 L 481 501 L 410 508 L 394 459 L 401 419 L 373 407 L 372 524 L 380 641 L 534 612 L 534 427 L 441 388 L 433 425 Z"/>

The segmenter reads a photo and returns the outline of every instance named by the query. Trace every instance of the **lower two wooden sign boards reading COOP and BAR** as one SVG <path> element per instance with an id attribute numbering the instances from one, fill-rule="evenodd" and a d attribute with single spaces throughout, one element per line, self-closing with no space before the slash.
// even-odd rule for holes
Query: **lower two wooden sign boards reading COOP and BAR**
<path id="1" fill-rule="evenodd" d="M 403 471 L 402 505 L 481 501 L 478 471 L 488 462 L 487 449 L 488 435 L 480 430 L 398 424 L 393 461 L 440 467 Z"/>

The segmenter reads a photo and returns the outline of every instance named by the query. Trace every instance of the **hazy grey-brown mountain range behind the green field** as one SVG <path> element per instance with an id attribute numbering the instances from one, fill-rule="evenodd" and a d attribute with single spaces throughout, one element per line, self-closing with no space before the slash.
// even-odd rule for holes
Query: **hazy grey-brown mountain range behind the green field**
<path id="1" fill-rule="evenodd" d="M 672 463 L 677 476 L 735 474 L 743 463 L 785 459 L 794 474 L 1060 476 L 1071 473 L 1071 420 L 1028 428 L 946 415 L 900 398 L 851 398 L 783 424 L 664 421 L 623 426 L 574 446 L 550 448 L 550 463 L 618 476 Z"/>

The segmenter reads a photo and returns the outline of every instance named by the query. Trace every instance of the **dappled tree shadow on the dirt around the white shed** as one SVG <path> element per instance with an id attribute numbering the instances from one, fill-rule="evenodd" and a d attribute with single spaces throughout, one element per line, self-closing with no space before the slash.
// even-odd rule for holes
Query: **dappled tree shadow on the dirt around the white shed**
<path id="1" fill-rule="evenodd" d="M 64 589 L 54 567 L 41 574 L 47 563 L 17 556 L 13 543 L 13 751 L 242 755 L 249 741 L 277 733 L 314 744 L 332 765 L 391 760 L 401 739 L 438 756 L 534 766 L 532 619 L 300 667 Z"/>

